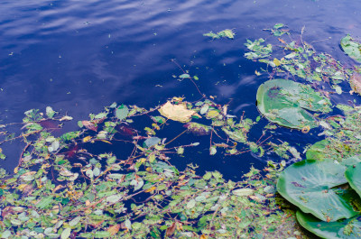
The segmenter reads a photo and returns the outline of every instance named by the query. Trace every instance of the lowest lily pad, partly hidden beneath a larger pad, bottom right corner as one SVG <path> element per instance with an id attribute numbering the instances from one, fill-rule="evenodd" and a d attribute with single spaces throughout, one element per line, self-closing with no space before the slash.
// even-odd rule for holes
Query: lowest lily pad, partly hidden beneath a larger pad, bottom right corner
<path id="1" fill-rule="evenodd" d="M 340 220 L 338 222 L 324 222 L 310 214 L 296 213 L 297 220 L 311 233 L 321 238 L 333 239 L 356 239 L 361 238 L 361 216 Z"/>

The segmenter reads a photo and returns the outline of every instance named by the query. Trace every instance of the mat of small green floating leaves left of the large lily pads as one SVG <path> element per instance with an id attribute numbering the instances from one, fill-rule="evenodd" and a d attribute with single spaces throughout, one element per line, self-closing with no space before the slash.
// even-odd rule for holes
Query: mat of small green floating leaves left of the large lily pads
<path id="1" fill-rule="evenodd" d="M 25 115 L 17 136 L 26 144 L 19 166 L 11 176 L 2 170 L 2 238 L 300 234 L 274 198 L 284 161 L 270 161 L 265 173 L 252 168 L 241 181 L 226 180 L 218 171 L 198 175 L 193 164 L 184 170 L 172 165 L 174 155 L 199 146 L 172 143 L 181 133 L 172 140 L 157 137 L 172 124 L 183 124 L 183 133 L 208 135 L 210 155 L 263 153 L 261 144 L 247 139 L 255 122 L 227 115 L 227 106 L 207 99 L 193 105 L 180 97 L 151 110 L 113 104 L 79 121 L 79 131 L 59 137 L 52 132 L 70 116 L 56 117 L 51 107 L 45 114 L 30 110 Z M 135 129 L 138 120 L 149 125 Z M 196 122 L 200 120 L 203 124 Z M 128 154 L 92 152 L 99 143 L 122 147 L 122 154 Z"/>

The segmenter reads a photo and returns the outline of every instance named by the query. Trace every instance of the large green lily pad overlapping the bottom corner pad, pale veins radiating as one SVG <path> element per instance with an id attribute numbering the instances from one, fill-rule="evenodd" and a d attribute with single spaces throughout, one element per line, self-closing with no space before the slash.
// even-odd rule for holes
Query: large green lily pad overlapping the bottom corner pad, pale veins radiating
<path id="1" fill-rule="evenodd" d="M 350 204 L 349 190 L 334 188 L 347 183 L 346 167 L 332 160 L 299 161 L 283 170 L 277 190 L 305 213 L 334 222 L 356 215 Z"/>

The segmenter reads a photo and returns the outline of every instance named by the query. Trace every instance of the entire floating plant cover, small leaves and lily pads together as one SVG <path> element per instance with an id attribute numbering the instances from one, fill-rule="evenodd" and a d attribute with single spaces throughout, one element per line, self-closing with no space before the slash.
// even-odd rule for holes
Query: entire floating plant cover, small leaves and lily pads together
<path id="1" fill-rule="evenodd" d="M 25 146 L 14 173 L 0 169 L 0 237 L 308 238 L 296 217 L 321 237 L 359 237 L 361 107 L 333 106 L 330 98 L 360 94 L 360 69 L 316 52 L 303 41 L 304 29 L 299 43 L 282 23 L 265 31 L 282 45 L 245 43 L 245 58 L 267 66 L 255 74 L 270 78 L 258 88 L 256 119 L 232 115 L 227 105 L 199 91 L 198 101 L 173 97 L 151 109 L 114 103 L 79 121 L 79 130 L 60 135 L 72 117 L 58 116 L 51 106 L 25 112 L 23 123 L 15 124 L 17 134 L 7 131 L 14 124 L 2 124 L 3 145 L 21 140 Z M 205 36 L 231 41 L 235 32 Z M 355 60 L 359 46 L 350 36 L 341 40 Z M 277 59 L 278 50 L 284 56 Z M 185 71 L 179 78 L 198 79 Z M 335 107 L 342 115 L 331 115 Z M 266 121 L 252 140 L 249 133 Z M 322 141 L 305 148 L 307 160 L 285 169 L 284 160 L 301 160 L 301 152 L 270 139 L 280 125 L 302 133 L 317 128 Z M 174 126 L 184 131 L 162 137 Z M 203 145 L 180 143 L 183 133 L 208 137 L 209 157 L 252 152 L 262 158 L 267 152 L 274 161 L 263 170 L 252 167 L 239 181 L 217 170 L 199 175 L 193 163 L 180 170 L 174 159 L 190 157 Z M 108 147 L 122 153 L 94 150 Z"/>

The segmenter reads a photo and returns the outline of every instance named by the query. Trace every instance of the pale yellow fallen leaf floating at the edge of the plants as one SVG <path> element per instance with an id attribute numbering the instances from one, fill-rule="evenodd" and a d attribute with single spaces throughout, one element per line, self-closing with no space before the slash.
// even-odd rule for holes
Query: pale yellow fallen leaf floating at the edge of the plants
<path id="1" fill-rule="evenodd" d="M 172 105 L 170 101 L 165 103 L 160 109 L 159 112 L 164 117 L 167 117 L 174 121 L 179 121 L 182 123 L 186 123 L 190 121 L 190 117 L 196 112 L 194 110 L 187 109 L 187 105 L 185 103 L 181 103 L 179 105 Z"/>

